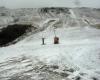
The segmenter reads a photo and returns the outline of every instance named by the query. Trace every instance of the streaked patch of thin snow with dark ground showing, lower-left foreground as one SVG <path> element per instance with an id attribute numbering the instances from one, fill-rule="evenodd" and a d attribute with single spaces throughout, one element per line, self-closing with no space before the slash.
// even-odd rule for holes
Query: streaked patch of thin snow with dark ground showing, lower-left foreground
<path id="1" fill-rule="evenodd" d="M 0 63 L 0 80 L 61 80 L 73 73 L 73 69 L 60 70 L 61 66 L 47 65 L 30 56 L 14 57 Z M 1 70 L 2 69 L 2 70 Z"/>

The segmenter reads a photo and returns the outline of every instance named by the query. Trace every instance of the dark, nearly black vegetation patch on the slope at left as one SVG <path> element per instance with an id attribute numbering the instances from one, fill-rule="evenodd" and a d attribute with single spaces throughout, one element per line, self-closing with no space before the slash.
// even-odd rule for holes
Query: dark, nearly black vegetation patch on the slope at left
<path id="1" fill-rule="evenodd" d="M 16 38 L 22 36 L 27 30 L 31 30 L 32 25 L 14 24 L 8 25 L 0 31 L 0 46 L 6 46 Z"/>

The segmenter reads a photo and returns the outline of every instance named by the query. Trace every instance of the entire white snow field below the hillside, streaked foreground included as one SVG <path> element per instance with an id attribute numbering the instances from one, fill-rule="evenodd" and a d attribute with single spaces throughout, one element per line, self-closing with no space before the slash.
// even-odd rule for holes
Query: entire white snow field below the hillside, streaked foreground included
<path id="1" fill-rule="evenodd" d="M 41 45 L 42 36 L 46 45 Z M 53 44 L 54 32 L 49 27 L 15 45 L 0 48 L 0 80 L 100 80 L 100 30 L 64 27 L 56 30 L 56 36 L 60 44 Z M 49 70 L 50 65 L 59 68 L 49 67 L 51 73 L 42 71 Z M 40 71 L 34 71 L 34 67 Z M 69 76 L 61 76 L 62 72 Z"/>

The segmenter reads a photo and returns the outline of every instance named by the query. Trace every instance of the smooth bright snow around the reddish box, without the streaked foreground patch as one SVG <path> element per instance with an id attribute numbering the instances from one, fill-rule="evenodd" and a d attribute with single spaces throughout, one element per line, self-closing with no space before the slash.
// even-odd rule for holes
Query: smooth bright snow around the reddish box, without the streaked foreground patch
<path id="1" fill-rule="evenodd" d="M 56 35 L 60 38 L 60 44 L 58 45 L 53 44 L 54 33 L 52 28 L 48 27 L 45 31 L 32 34 L 15 45 L 0 48 L 0 54 L 2 54 L 0 60 L 5 63 L 5 60 L 8 61 L 12 57 L 11 61 L 16 60 L 16 58 L 20 60 L 19 58 L 21 55 L 26 57 L 31 56 L 28 58 L 31 59 L 32 62 L 37 58 L 39 61 L 45 62 L 45 64 L 63 65 L 74 69 L 75 72 L 68 76 L 71 80 L 73 77 L 76 78 L 76 76 L 80 76 L 83 78 L 82 80 L 94 80 L 92 79 L 94 77 L 99 80 L 100 30 L 91 27 L 58 28 L 56 30 Z M 46 45 L 41 45 L 42 36 L 46 38 Z M 6 66 L 4 63 L 1 63 L 1 66 L 3 66 L 3 69 L 8 73 L 7 75 L 10 75 L 12 72 L 7 71 L 8 68 L 5 68 Z M 22 63 L 22 65 L 20 65 L 20 63 Z M 29 64 L 26 62 L 24 65 L 22 60 L 20 63 L 14 62 L 13 65 L 16 65 L 13 66 L 8 62 L 8 66 L 11 67 L 10 69 L 16 70 L 15 68 L 19 65 L 18 68 L 22 68 Z M 25 69 L 27 68 L 25 67 L 24 70 Z M 21 72 L 14 71 L 13 74 L 14 73 L 17 75 Z M 80 75 L 81 73 L 83 73 L 84 76 Z M 6 73 L 2 74 L 1 77 L 6 76 L 5 74 Z"/>

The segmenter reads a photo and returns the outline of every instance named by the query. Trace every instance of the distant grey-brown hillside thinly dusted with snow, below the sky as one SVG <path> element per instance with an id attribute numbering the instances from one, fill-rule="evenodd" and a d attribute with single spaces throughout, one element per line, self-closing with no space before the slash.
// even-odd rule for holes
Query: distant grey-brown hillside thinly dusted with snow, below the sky
<path id="1" fill-rule="evenodd" d="M 48 18 L 59 18 L 61 26 L 77 26 L 77 21 L 81 26 L 87 24 L 99 24 L 100 10 L 91 8 L 22 8 L 22 9 L 0 9 L 0 25 L 4 24 L 36 24 Z M 2 19 L 3 17 L 6 17 Z M 8 16 L 11 17 L 8 19 Z M 77 18 L 77 19 L 75 19 Z M 6 21 L 6 22 L 5 22 Z"/>

